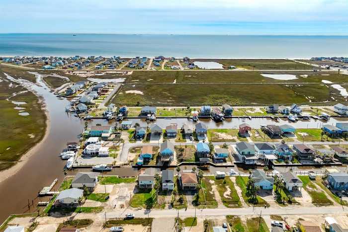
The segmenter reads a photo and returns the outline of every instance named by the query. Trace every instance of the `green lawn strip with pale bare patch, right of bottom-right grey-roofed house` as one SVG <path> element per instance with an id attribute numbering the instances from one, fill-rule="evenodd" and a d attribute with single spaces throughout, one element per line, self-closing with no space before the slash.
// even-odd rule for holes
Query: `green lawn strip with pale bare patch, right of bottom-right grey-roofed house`
<path id="1" fill-rule="evenodd" d="M 312 203 L 315 206 L 331 206 L 333 202 L 330 201 L 323 190 L 317 189 L 314 183 L 309 179 L 308 176 L 298 176 L 303 182 L 303 187 L 312 198 Z"/>

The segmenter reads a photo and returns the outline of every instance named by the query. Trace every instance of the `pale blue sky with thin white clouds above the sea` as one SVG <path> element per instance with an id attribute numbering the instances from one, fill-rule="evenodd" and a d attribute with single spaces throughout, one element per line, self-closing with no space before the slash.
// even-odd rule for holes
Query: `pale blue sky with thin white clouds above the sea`
<path id="1" fill-rule="evenodd" d="M 1 0 L 0 33 L 348 35 L 348 0 Z"/>

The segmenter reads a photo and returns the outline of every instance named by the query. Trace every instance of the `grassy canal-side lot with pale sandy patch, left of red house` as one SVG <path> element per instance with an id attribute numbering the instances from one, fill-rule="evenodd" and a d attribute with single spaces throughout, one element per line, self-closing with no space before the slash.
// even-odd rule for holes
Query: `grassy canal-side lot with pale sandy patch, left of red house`
<path id="1" fill-rule="evenodd" d="M 238 129 L 208 129 L 208 139 L 212 142 L 247 141 L 247 138 L 239 136 Z"/>

